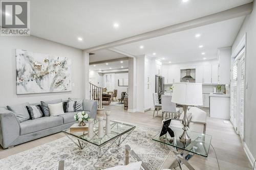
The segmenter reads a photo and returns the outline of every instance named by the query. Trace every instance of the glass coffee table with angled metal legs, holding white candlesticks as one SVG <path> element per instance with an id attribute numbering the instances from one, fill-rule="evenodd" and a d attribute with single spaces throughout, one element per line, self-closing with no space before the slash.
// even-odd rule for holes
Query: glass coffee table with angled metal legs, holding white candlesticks
<path id="1" fill-rule="evenodd" d="M 86 145 L 93 144 L 98 147 L 98 157 L 100 158 L 103 154 L 108 151 L 111 146 L 117 142 L 119 146 L 127 136 L 129 136 L 133 130 L 136 128 L 134 125 L 124 124 L 120 122 L 110 121 L 111 133 L 109 135 L 104 135 L 102 138 L 98 137 L 98 122 L 94 123 L 94 135 L 89 138 L 87 131 L 70 131 L 70 129 L 62 130 L 67 137 L 73 141 L 80 149 L 83 149 Z M 105 120 L 103 120 L 103 127 L 105 131 Z M 123 138 L 121 139 L 121 137 Z M 77 142 L 76 142 L 77 140 Z M 110 145 L 104 151 L 101 151 L 103 145 L 109 143 Z M 88 147 L 91 149 L 90 147 Z"/>

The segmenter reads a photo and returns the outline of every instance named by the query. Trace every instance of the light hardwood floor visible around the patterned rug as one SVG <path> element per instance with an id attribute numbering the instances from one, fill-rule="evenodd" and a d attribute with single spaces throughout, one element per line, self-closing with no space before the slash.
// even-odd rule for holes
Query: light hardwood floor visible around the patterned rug
<path id="1" fill-rule="evenodd" d="M 105 110 L 111 111 L 112 119 L 126 123 L 133 123 L 144 127 L 153 127 L 158 129 L 161 127 L 161 117 L 153 118 L 153 111 L 147 111 L 145 113 L 130 113 L 118 106 L 104 107 Z M 159 112 L 158 115 L 161 115 L 161 112 Z M 211 143 L 217 152 L 220 168 L 222 170 L 252 169 L 243 150 L 242 142 L 239 136 L 234 132 L 231 123 L 226 124 L 222 119 L 207 117 L 206 133 L 212 135 Z M 0 159 L 29 150 L 37 147 L 38 145 L 56 140 L 63 136 L 64 134 L 57 133 L 17 145 L 11 149 L 3 150 L 3 148 L 0 148 Z M 212 148 L 210 148 L 207 158 L 195 155 L 189 160 L 189 162 L 195 167 L 195 169 L 218 169 L 215 153 Z M 171 162 L 167 160 L 163 168 L 167 168 L 170 163 Z M 184 169 L 186 168 L 184 167 Z"/>

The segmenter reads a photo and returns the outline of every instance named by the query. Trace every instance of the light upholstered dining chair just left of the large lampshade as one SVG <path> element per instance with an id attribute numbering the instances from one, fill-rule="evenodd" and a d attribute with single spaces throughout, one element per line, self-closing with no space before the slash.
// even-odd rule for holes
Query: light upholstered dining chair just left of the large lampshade
<path id="1" fill-rule="evenodd" d="M 162 117 L 165 119 L 167 113 L 170 118 L 178 118 L 180 109 L 176 108 L 176 104 L 172 102 L 172 95 L 161 95 Z M 172 116 L 170 116 L 172 114 Z"/>

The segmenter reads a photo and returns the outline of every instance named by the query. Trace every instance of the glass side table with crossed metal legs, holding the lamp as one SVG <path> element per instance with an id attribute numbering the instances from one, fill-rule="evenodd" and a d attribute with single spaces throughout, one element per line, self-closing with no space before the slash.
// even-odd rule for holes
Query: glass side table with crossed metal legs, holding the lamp
<path id="1" fill-rule="evenodd" d="M 169 169 L 176 167 L 180 167 L 180 169 L 182 169 L 181 164 L 184 164 L 188 169 L 195 170 L 195 168 L 193 168 L 187 161 L 193 157 L 194 154 L 203 157 L 208 156 L 211 136 L 198 132 L 187 131 L 191 141 L 182 142 L 180 141 L 179 136 L 183 133 L 183 129 L 174 127 L 170 127 L 170 129 L 174 131 L 175 137 L 170 137 L 168 133 L 163 136 L 159 136 L 159 133 L 153 138 L 153 140 L 157 142 L 166 144 L 166 146 L 175 154 L 176 159 L 170 165 Z M 181 150 L 180 153 L 178 152 L 178 149 Z"/>

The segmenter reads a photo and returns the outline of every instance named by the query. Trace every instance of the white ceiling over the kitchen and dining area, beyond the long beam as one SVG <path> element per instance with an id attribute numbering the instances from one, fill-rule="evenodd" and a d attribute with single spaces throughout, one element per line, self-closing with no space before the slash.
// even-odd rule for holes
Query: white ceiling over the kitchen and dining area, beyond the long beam
<path id="1" fill-rule="evenodd" d="M 210 25 L 138 41 L 115 48 L 134 56 L 147 55 L 163 63 L 200 61 L 217 58 L 217 49 L 231 46 L 245 17 L 229 19 Z M 196 34 L 201 37 L 196 38 Z M 141 49 L 140 46 L 144 48 Z M 199 45 L 203 45 L 199 48 Z M 156 53 L 156 55 L 153 55 Z M 205 53 L 202 55 L 201 53 Z M 165 58 L 163 60 L 163 58 Z"/>

